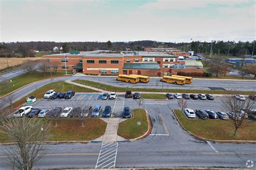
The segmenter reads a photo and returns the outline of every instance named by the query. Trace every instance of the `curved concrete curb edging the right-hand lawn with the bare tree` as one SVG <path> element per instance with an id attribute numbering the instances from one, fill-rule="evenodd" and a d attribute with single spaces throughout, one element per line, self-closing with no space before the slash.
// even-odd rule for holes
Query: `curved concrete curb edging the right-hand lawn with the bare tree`
<path id="1" fill-rule="evenodd" d="M 180 127 L 181 127 L 183 130 L 185 130 L 187 133 L 190 133 L 193 137 L 196 137 L 196 138 L 198 138 L 198 139 L 200 139 L 200 140 L 204 140 L 204 141 L 214 141 L 214 142 L 219 142 L 219 143 L 256 143 L 255 140 L 213 140 L 213 139 L 206 139 L 206 138 L 200 137 L 200 136 L 198 136 L 197 134 L 194 134 L 194 133 L 192 133 L 192 132 L 186 130 L 186 129 L 183 127 L 183 125 L 181 125 L 181 123 L 180 123 L 178 117 L 176 116 L 174 110 L 172 110 L 172 112 L 173 112 L 174 116 L 176 117 L 177 121 L 179 122 Z"/>

